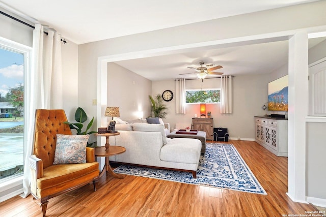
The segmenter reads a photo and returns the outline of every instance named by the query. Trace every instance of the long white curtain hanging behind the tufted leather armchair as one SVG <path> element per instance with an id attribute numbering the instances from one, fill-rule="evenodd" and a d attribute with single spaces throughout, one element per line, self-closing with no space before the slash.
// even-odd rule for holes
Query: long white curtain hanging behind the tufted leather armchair
<path id="1" fill-rule="evenodd" d="M 36 109 L 55 109 L 63 106 L 62 70 L 61 70 L 61 37 L 48 31 L 43 33 L 43 26 L 35 25 L 33 32 L 33 50 L 31 74 L 26 79 L 25 123 L 27 130 L 25 142 L 25 161 L 23 191 L 21 197 L 31 193 L 31 172 L 29 156 L 33 153 L 34 119 Z"/>

